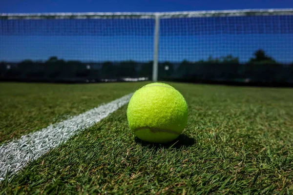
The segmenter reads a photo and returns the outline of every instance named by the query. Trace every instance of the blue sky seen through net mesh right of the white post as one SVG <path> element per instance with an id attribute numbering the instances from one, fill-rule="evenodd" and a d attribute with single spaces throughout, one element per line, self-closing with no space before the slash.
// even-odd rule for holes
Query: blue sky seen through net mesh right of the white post
<path id="1" fill-rule="evenodd" d="M 159 61 L 220 59 L 248 62 L 262 49 L 278 62 L 293 62 L 293 16 L 175 18 L 160 21 Z"/>

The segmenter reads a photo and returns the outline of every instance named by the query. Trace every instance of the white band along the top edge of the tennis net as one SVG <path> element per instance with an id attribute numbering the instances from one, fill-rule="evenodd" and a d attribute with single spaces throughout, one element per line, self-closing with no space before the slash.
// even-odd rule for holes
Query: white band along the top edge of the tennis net
<path id="1" fill-rule="evenodd" d="M 286 16 L 293 15 L 293 9 L 245 9 L 192 12 L 87 12 L 87 13 L 20 13 L 0 14 L 1 20 L 38 20 L 38 19 L 162 19 L 237 17 L 237 16 Z"/>

